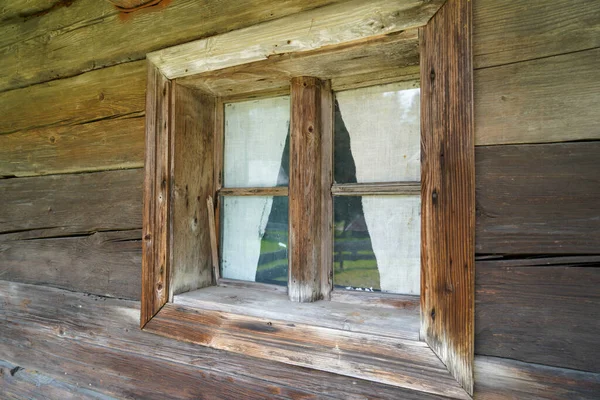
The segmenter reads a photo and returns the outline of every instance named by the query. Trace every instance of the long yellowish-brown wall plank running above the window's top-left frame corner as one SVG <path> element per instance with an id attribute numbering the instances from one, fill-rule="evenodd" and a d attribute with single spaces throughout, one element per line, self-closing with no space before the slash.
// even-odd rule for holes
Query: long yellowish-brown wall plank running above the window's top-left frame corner
<path id="1" fill-rule="evenodd" d="M 267 0 L 180 0 L 125 14 L 106 1 L 79 0 L 0 26 L 0 90 L 142 60 L 150 51 L 330 3 L 283 0 L 273 7 Z M 127 46 L 114 45 L 123 38 L 129 38 Z"/>

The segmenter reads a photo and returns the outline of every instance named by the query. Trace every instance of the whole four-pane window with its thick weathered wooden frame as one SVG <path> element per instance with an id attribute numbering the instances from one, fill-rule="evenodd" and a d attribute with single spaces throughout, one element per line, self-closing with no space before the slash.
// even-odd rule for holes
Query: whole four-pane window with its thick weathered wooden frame
<path id="1" fill-rule="evenodd" d="M 468 398 L 470 2 L 364 3 L 148 56 L 141 325 Z"/>

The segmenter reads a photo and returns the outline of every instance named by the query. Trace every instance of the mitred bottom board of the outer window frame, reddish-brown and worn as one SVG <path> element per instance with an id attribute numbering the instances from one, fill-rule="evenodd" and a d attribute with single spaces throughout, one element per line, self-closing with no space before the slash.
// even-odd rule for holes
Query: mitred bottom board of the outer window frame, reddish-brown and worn
<path id="1" fill-rule="evenodd" d="M 144 329 L 271 362 L 457 399 L 470 398 L 431 349 L 419 341 L 197 310 L 171 303 Z"/>

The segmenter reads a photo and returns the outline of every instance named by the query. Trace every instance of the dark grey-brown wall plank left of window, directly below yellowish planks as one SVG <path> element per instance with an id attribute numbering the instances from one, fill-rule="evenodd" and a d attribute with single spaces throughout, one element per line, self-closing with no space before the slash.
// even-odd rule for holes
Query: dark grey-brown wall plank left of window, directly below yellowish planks
<path id="1" fill-rule="evenodd" d="M 0 180 L 0 241 L 139 229 L 142 170 Z"/>

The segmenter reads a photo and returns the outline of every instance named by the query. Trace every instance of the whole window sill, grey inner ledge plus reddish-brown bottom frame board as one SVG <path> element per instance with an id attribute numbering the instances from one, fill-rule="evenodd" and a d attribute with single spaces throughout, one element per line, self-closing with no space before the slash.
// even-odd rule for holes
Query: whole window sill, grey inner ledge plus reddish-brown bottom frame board
<path id="1" fill-rule="evenodd" d="M 361 295 L 364 299 L 356 300 Z M 294 303 L 277 289 L 213 286 L 175 296 L 144 330 L 262 359 L 470 398 L 418 340 L 414 296 L 392 295 L 393 301 L 382 301 L 385 295 L 342 292 L 332 297 Z"/>

